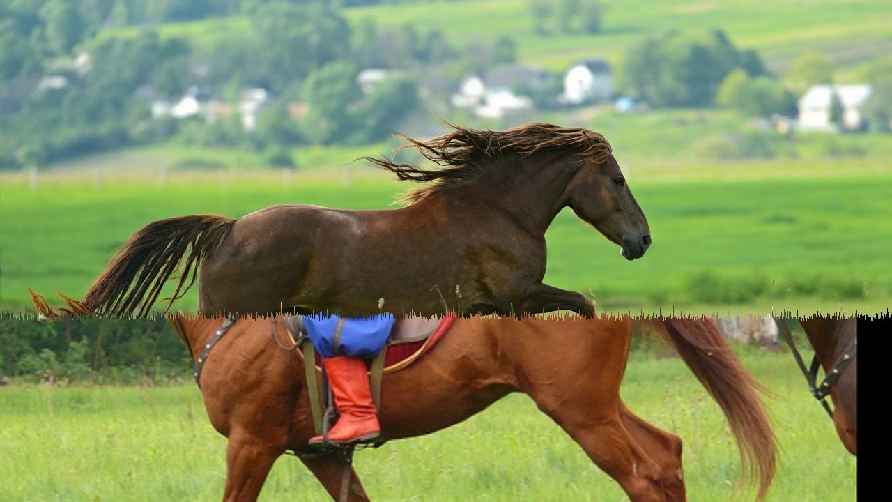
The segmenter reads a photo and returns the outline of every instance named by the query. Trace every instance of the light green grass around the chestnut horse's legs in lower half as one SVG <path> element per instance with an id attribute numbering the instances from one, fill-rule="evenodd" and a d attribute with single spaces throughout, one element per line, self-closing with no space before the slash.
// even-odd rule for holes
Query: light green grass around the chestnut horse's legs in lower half
<path id="1" fill-rule="evenodd" d="M 780 444 L 769 502 L 854 501 L 855 457 L 808 394 L 788 354 L 739 350 L 772 390 Z M 677 358 L 635 356 L 623 386 L 635 413 L 681 436 L 691 500 L 752 500 L 735 493 L 739 461 L 718 406 Z M 226 440 L 198 389 L 0 389 L 0 500 L 213 500 L 226 475 Z M 625 500 L 621 489 L 527 397 L 509 396 L 445 431 L 359 452 L 375 500 Z M 275 465 L 261 500 L 326 500 L 291 457 Z"/>

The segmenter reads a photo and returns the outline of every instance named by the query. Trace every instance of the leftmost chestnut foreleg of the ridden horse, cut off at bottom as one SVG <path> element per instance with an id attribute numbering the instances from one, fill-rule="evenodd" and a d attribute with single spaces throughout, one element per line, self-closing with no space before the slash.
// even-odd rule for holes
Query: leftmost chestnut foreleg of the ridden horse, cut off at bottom
<path id="1" fill-rule="evenodd" d="M 270 448 L 266 439 L 246 431 L 232 431 L 227 443 L 224 502 L 257 500 L 269 469 L 283 451 L 284 448 Z"/>

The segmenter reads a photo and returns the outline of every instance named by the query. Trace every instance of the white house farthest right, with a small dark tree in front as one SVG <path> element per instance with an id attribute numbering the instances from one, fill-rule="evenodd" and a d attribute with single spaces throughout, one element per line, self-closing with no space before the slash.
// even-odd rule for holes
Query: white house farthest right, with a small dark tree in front
<path id="1" fill-rule="evenodd" d="M 800 130 L 836 130 L 830 122 L 832 93 L 839 96 L 842 104 L 842 123 L 846 129 L 860 129 L 864 126 L 863 105 L 871 97 L 871 86 L 856 84 L 849 86 L 814 85 L 799 98 Z"/>

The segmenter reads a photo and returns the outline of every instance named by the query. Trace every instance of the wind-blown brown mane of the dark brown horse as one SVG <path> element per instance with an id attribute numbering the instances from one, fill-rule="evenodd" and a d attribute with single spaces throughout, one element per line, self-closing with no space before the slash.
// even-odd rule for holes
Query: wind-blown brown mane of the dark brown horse
<path id="1" fill-rule="evenodd" d="M 532 122 L 509 130 L 474 130 L 448 124 L 454 129 L 427 141 L 418 141 L 399 135 L 408 145 L 393 151 L 394 154 L 405 148 L 416 148 L 426 159 L 442 169 L 422 169 L 412 163 L 394 163 L 376 157 L 361 157 L 384 170 L 396 173 L 400 180 L 428 183 L 421 188 L 410 190 L 398 202 L 416 203 L 432 194 L 448 188 L 465 185 L 484 172 L 500 155 L 532 155 L 540 150 L 554 148 L 580 148 L 580 154 L 595 163 L 607 160 L 612 149 L 603 136 L 582 128 L 563 128 L 554 124 Z"/>

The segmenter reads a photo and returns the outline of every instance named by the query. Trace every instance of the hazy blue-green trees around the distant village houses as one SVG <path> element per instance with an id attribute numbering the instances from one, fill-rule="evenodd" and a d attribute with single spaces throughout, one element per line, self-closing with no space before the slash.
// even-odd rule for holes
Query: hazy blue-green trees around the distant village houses
<path id="1" fill-rule="evenodd" d="M 345 7 L 397 1 L 8 0 L 0 4 L 0 168 L 41 167 L 169 138 L 244 147 L 287 165 L 294 145 L 387 138 L 420 105 L 420 79 L 455 80 L 516 61 L 516 42 L 508 35 L 454 40 L 439 29 L 351 24 L 343 17 Z M 529 29 L 541 37 L 597 36 L 604 22 L 605 8 L 594 0 L 531 0 L 529 8 Z M 208 46 L 153 29 L 222 16 L 246 21 L 244 36 Z M 135 30 L 103 34 L 122 26 Z M 90 55 L 88 71 L 58 64 L 81 50 Z M 367 94 L 356 81 L 365 68 L 399 74 Z M 41 78 L 50 74 L 56 80 L 44 85 Z M 875 88 L 868 118 L 886 129 L 892 63 L 878 60 L 868 78 Z M 653 107 L 792 115 L 807 85 L 831 81 L 832 64 L 804 54 L 787 74 L 772 75 L 755 51 L 735 46 L 721 29 L 673 30 L 634 44 L 618 79 L 624 93 Z M 153 100 L 175 100 L 194 85 L 229 103 L 251 87 L 268 89 L 274 100 L 252 131 L 244 130 L 237 113 L 211 124 L 152 118 Z M 308 110 L 289 113 L 288 105 L 298 101 Z"/>

